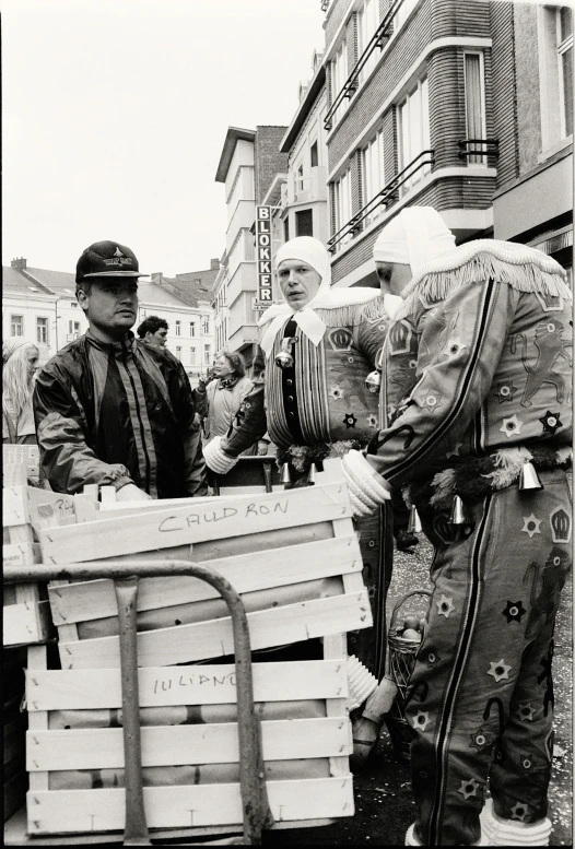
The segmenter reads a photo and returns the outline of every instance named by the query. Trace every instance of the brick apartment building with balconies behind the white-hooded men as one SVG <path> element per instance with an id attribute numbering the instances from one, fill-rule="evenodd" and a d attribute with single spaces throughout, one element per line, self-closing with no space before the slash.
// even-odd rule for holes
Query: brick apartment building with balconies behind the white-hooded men
<path id="1" fill-rule="evenodd" d="M 377 235 L 413 204 L 437 209 L 458 243 L 520 240 L 571 266 L 571 10 L 488 0 L 322 8 L 333 281 L 375 285 Z"/>

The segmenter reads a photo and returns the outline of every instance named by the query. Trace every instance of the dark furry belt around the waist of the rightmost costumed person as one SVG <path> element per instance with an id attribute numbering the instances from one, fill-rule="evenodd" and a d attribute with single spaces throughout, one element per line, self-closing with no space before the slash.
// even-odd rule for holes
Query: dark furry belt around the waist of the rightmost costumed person
<path id="1" fill-rule="evenodd" d="M 573 464 L 573 451 L 568 446 L 554 449 L 547 446 L 517 446 L 500 448 L 488 457 L 470 459 L 453 469 L 445 469 L 431 481 L 412 483 L 403 490 L 408 507 L 418 509 L 431 505 L 436 509 L 448 509 L 454 495 L 463 500 L 479 500 L 498 490 L 505 490 L 519 480 L 525 463 L 531 462 L 536 469 L 570 469 Z"/>

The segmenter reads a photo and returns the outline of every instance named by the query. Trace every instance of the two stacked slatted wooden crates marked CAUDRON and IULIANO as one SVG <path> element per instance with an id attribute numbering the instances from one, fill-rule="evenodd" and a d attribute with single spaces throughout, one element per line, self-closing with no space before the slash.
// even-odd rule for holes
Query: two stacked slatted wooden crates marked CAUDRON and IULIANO
<path id="1" fill-rule="evenodd" d="M 251 649 L 321 638 L 322 659 L 254 663 L 270 807 L 290 827 L 354 811 L 347 630 L 372 624 L 339 461 L 317 484 L 207 499 L 101 505 L 39 532 L 46 564 L 191 559 L 242 596 Z M 113 582 L 49 588 L 61 670 L 34 652 L 27 704 L 31 835 L 124 827 L 124 750 Z M 232 625 L 196 578 L 146 578 L 138 596 L 142 768 L 152 829 L 242 824 Z M 209 662 L 207 662 L 209 661 Z M 178 664 L 178 665 L 176 665 Z M 156 833 L 157 834 L 157 833 Z"/>

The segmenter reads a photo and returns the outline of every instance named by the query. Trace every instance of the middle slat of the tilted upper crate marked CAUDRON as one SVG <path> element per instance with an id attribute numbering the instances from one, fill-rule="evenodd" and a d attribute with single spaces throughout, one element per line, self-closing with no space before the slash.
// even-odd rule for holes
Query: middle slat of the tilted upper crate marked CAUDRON
<path id="1" fill-rule="evenodd" d="M 274 549 L 272 556 L 269 551 L 262 551 L 208 561 L 202 565 L 221 573 L 237 592 L 246 593 L 361 571 L 362 561 L 357 538 L 352 534 Z M 49 597 L 56 625 L 116 616 L 118 612 L 110 580 L 51 587 Z M 159 610 L 218 598 L 218 590 L 197 578 L 143 578 L 138 589 L 138 610 Z"/>

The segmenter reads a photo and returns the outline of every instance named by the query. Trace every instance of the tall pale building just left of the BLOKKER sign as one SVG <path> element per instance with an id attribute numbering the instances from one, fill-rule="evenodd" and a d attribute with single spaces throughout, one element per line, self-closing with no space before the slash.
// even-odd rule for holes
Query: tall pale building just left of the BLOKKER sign
<path id="1" fill-rule="evenodd" d="M 286 127 L 230 127 L 215 181 L 225 186 L 227 231 L 213 304 L 222 347 L 238 351 L 248 369 L 256 354 L 260 311 L 255 306 L 257 264 L 254 245 L 256 205 L 262 204 L 278 174 L 285 174 L 286 155 L 280 142 Z M 225 304 L 225 307 L 224 307 Z M 224 309 L 225 318 L 220 310 Z M 225 332 L 222 333 L 222 329 Z"/>

